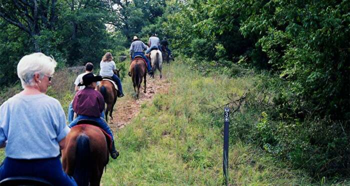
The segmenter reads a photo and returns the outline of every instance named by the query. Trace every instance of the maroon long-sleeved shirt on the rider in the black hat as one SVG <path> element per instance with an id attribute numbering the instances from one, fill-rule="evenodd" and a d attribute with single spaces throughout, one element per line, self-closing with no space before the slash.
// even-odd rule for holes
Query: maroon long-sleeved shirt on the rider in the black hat
<path id="1" fill-rule="evenodd" d="M 104 99 L 99 91 L 86 86 L 76 92 L 73 99 L 73 110 L 76 114 L 100 117 L 103 109 Z"/>

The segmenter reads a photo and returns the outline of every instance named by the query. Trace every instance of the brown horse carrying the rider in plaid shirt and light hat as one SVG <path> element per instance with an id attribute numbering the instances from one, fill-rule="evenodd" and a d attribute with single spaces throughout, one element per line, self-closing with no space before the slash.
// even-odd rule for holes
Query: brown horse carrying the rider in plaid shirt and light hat
<path id="1" fill-rule="evenodd" d="M 136 92 L 136 98 L 138 98 L 138 94 L 140 93 L 140 86 L 142 83 L 142 78 L 144 78 L 144 90 L 143 92 L 146 92 L 146 75 L 147 75 L 147 67 L 146 64 L 143 62 L 142 58 L 134 58 L 131 61 L 129 72 L 131 73 L 131 79 L 133 83 L 133 89 L 136 92 L 136 86 L 137 86 L 137 92 Z"/>

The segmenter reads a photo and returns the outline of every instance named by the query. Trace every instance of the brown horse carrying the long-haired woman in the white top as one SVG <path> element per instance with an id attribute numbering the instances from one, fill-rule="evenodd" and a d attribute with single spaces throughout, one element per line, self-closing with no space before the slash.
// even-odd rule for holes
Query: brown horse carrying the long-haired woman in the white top
<path id="1" fill-rule="evenodd" d="M 113 70 L 114 74 L 118 77 L 119 71 L 120 70 Z M 101 92 L 101 94 L 103 95 L 104 102 L 107 105 L 104 109 L 104 115 L 105 121 L 108 122 L 108 113 L 111 120 L 113 120 L 112 112 L 117 99 L 117 90 L 115 89 L 114 84 L 109 80 L 101 80 L 99 84 L 99 92 Z"/>

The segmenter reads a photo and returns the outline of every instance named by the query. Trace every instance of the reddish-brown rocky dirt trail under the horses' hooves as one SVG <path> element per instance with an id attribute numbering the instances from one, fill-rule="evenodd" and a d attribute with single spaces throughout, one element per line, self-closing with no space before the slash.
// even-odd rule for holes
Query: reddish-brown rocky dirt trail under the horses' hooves
<path id="1" fill-rule="evenodd" d="M 164 75 L 161 79 L 159 79 L 158 73 L 156 76 L 154 76 L 154 79 L 147 76 L 146 93 L 143 93 L 142 82 L 138 99 L 130 96 L 117 99 L 116 105 L 113 109 L 113 121 L 112 123 L 109 123 L 109 126 L 113 130 L 124 127 L 134 116 L 138 114 L 143 102 L 150 101 L 155 93 L 167 92 L 169 85 L 170 83 L 166 80 Z"/>

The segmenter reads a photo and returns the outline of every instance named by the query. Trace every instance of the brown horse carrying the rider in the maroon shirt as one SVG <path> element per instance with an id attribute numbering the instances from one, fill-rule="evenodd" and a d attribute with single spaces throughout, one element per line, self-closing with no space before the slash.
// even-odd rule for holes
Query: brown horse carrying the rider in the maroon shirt
<path id="1" fill-rule="evenodd" d="M 97 126 L 82 124 L 71 128 L 62 149 L 63 170 L 77 185 L 99 185 L 108 163 L 107 140 Z"/>

